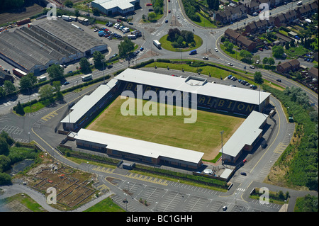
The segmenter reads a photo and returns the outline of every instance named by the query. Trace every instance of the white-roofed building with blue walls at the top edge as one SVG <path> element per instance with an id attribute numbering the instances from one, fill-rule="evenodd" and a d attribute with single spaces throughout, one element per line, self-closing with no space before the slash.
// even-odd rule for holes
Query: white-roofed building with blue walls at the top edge
<path id="1" fill-rule="evenodd" d="M 95 0 L 91 6 L 107 16 L 125 16 L 140 7 L 140 0 Z"/>

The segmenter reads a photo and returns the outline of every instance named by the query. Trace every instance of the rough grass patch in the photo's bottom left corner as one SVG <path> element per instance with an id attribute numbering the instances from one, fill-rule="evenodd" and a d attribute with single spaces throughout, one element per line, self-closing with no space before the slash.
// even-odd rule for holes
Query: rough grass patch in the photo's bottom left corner
<path id="1" fill-rule="evenodd" d="M 47 212 L 41 205 L 36 203 L 35 200 L 24 193 L 18 193 L 14 196 L 5 198 L 2 204 L 4 205 L 4 207 L 1 207 L 1 210 L 5 211 L 9 210 L 13 212 Z"/>

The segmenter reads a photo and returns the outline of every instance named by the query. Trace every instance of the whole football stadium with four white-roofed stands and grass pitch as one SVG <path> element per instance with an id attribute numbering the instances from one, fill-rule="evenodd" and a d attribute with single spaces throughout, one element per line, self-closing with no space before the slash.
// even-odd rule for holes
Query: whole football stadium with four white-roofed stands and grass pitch
<path id="1" fill-rule="evenodd" d="M 61 123 L 79 148 L 198 169 L 221 154 L 223 161 L 236 162 L 254 147 L 268 118 L 262 112 L 269 96 L 200 77 L 125 69 L 72 106 Z"/>

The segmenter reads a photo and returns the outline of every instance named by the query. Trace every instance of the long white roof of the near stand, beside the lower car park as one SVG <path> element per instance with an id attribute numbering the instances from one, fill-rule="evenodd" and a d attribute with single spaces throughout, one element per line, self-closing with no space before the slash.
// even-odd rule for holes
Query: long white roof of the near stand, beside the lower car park
<path id="1" fill-rule="evenodd" d="M 108 149 L 138 154 L 144 157 L 154 159 L 157 159 L 158 157 L 167 157 L 195 164 L 198 164 L 198 162 L 201 161 L 204 154 L 203 152 L 196 152 L 189 149 L 161 145 L 153 142 L 136 140 L 129 137 L 121 137 L 118 135 L 111 135 L 104 132 L 96 132 L 86 129 L 79 130 L 74 139 L 107 145 Z"/>

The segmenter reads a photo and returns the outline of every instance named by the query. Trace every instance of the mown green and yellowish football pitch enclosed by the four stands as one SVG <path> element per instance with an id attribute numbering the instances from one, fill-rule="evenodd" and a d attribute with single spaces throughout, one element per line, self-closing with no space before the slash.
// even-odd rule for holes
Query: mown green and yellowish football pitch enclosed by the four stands
<path id="1" fill-rule="evenodd" d="M 185 124 L 184 118 L 190 118 L 191 115 L 186 116 L 183 111 L 181 115 L 176 115 L 179 108 L 176 106 L 172 106 L 173 115 L 159 115 L 159 103 L 157 115 L 137 115 L 135 108 L 135 115 L 124 116 L 121 105 L 125 101 L 118 96 L 86 129 L 204 152 L 203 159 L 211 160 L 220 150 L 220 131 L 224 130 L 225 144 L 245 120 L 198 110 L 196 123 Z M 135 106 L 136 102 L 135 99 Z M 143 106 L 147 102 L 142 101 Z"/>

